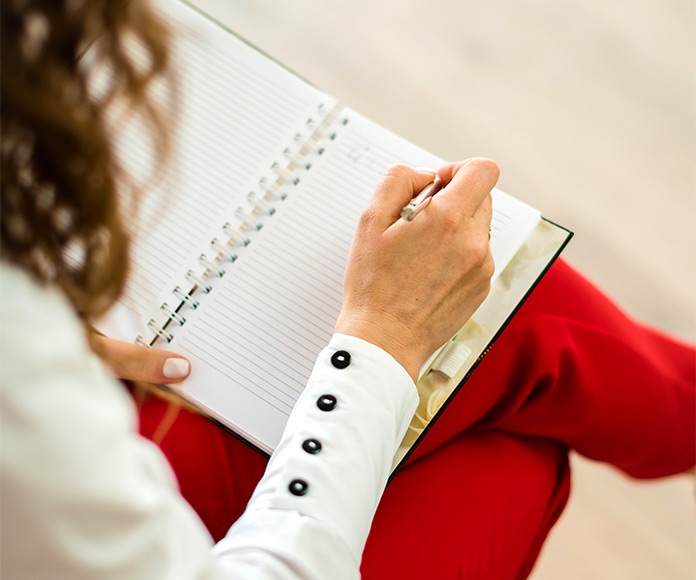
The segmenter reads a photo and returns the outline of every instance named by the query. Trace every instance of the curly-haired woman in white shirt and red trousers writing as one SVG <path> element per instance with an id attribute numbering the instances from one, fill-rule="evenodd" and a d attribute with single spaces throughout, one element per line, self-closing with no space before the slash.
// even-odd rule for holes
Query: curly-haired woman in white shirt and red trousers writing
<path id="1" fill-rule="evenodd" d="M 380 181 L 336 335 L 268 465 L 184 411 L 158 449 L 90 350 L 132 379 L 160 381 L 178 358 L 86 330 L 121 291 L 127 236 L 104 105 L 75 62 L 100 33 L 109 98 L 147 108 L 165 35 L 125 0 L 8 0 L 2 31 L 6 577 L 525 577 L 567 498 L 568 448 L 637 477 L 693 465 L 693 349 L 560 263 L 383 494 L 420 364 L 488 291 L 498 172 L 478 159 L 441 168 L 446 187 L 408 228 L 398 212 L 433 174 L 395 167 Z M 124 54 L 128 36 L 148 70 Z M 430 256 L 418 279 L 414 249 Z M 166 408 L 139 405 L 145 435 Z"/>

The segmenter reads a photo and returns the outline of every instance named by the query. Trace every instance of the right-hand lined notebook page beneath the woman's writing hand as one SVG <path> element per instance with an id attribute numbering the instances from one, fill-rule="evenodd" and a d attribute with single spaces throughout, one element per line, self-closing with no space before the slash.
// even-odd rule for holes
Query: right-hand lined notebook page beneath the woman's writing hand
<path id="1" fill-rule="evenodd" d="M 183 394 L 267 451 L 331 337 L 353 232 L 380 175 L 396 162 L 441 164 L 352 111 L 345 118 L 171 345 L 192 361 Z M 509 244 L 520 219 L 506 211 L 495 235 Z"/>

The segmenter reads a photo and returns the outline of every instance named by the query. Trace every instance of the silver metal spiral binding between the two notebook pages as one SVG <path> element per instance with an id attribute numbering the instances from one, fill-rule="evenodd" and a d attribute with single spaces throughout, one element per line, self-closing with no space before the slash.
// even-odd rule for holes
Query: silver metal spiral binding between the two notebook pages
<path id="1" fill-rule="evenodd" d="M 263 228 L 269 217 L 275 215 L 278 206 L 291 195 L 289 192 L 312 169 L 312 157 L 322 155 L 328 143 L 336 138 L 337 133 L 333 130 L 335 122 L 337 113 L 325 104 L 317 107 L 316 117 L 307 118 L 305 132 L 294 135 L 292 145 L 283 150 L 282 159 L 271 163 L 268 173 L 247 193 L 245 202 L 234 212 L 234 220 L 226 222 L 221 228 L 220 237 L 210 241 L 210 253 L 200 254 L 198 272 L 193 268 L 186 272 L 185 278 L 190 288 L 174 287 L 172 296 L 175 306 L 162 303 L 162 320 L 151 319 L 147 323 L 148 330 L 152 332 L 150 340 L 138 336 L 136 344 L 152 347 L 158 340 L 169 343 L 174 339 L 171 331 L 186 324 L 186 317 L 182 313 L 186 309 L 198 308 L 200 301 L 196 296 L 210 293 L 214 288 L 211 280 L 222 278 L 230 271 L 239 254 L 253 242 L 254 234 Z M 342 118 L 338 122 L 346 125 L 348 119 Z"/>

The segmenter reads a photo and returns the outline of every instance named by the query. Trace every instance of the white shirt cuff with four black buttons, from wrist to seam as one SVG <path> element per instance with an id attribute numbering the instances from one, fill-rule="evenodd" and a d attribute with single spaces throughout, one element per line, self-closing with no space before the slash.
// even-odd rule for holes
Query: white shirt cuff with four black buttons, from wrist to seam
<path id="1" fill-rule="evenodd" d="M 417 405 L 413 380 L 391 355 L 362 339 L 334 335 L 242 517 L 259 510 L 310 516 L 333 529 L 359 565 Z"/>

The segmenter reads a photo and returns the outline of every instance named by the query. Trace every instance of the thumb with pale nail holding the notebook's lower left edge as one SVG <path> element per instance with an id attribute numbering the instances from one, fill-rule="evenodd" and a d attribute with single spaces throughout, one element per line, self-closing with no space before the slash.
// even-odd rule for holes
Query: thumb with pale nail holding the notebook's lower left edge
<path id="1" fill-rule="evenodd" d="M 177 383 L 191 371 L 190 363 L 173 352 L 137 346 L 105 336 L 95 337 L 97 354 L 116 376 L 148 383 Z"/>

